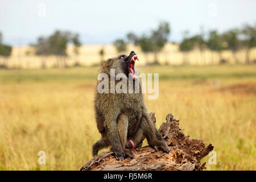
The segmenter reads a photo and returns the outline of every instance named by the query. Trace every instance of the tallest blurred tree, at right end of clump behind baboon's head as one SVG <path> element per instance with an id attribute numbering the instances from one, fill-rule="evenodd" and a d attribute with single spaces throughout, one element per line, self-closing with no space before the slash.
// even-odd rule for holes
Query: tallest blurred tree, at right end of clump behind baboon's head
<path id="1" fill-rule="evenodd" d="M 155 64 L 159 64 L 158 53 L 168 42 L 168 36 L 170 34 L 170 24 L 168 22 L 160 22 L 158 29 L 153 30 L 151 33 L 153 52 L 155 56 Z"/>

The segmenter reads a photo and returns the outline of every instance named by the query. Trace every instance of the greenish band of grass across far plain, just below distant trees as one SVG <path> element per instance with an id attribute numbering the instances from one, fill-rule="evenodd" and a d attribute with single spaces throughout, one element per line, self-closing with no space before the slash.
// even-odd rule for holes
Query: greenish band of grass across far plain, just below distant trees
<path id="1" fill-rule="evenodd" d="M 35 70 L 1 70 L 0 83 L 71 82 L 96 80 L 98 67 Z M 203 80 L 256 77 L 256 65 L 156 66 L 139 67 L 140 73 L 159 73 L 159 80 Z"/>

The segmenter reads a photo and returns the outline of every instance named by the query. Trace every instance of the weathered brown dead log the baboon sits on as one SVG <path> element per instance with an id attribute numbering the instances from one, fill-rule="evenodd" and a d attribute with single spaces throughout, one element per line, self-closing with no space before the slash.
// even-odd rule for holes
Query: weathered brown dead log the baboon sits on
<path id="1" fill-rule="evenodd" d="M 150 117 L 155 122 L 155 113 L 151 112 Z M 205 169 L 205 163 L 200 160 L 213 150 L 212 144 L 205 147 L 203 140 L 189 139 L 181 133 L 179 120 L 174 115 L 167 114 L 166 123 L 162 123 L 159 129 L 166 140 L 170 153 L 155 151 L 152 147 L 135 148 L 134 159 L 118 161 L 114 158 L 112 151 L 104 151 L 94 156 L 86 163 L 81 171 L 126 171 L 126 170 L 158 170 L 158 171 L 184 171 Z"/>

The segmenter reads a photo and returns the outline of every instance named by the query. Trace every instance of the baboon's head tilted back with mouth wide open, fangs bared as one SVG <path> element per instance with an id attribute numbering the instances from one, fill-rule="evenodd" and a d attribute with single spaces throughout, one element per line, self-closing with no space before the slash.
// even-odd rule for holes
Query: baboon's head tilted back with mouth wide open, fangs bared
<path id="1" fill-rule="evenodd" d="M 110 69 L 115 69 L 115 75 L 118 73 L 125 73 L 127 78 L 129 77 L 129 73 L 133 79 L 137 79 L 138 76 L 136 75 L 135 71 L 135 60 L 139 60 L 138 56 L 134 51 L 130 52 L 129 56 L 120 55 L 113 59 L 109 59 L 102 64 L 101 72 L 109 73 Z"/>

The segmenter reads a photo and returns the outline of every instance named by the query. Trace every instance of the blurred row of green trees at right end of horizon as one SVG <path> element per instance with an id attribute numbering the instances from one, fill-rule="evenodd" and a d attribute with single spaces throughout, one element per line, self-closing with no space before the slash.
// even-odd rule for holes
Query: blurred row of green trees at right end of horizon
<path id="1" fill-rule="evenodd" d="M 188 32 L 185 32 L 183 40 L 179 45 L 179 49 L 184 55 L 195 48 L 198 48 L 200 53 L 205 51 L 205 49 L 209 49 L 212 52 L 218 53 L 218 63 L 226 63 L 226 60 L 222 59 L 222 51 L 229 50 L 232 52 L 236 64 L 238 64 L 237 51 L 245 49 L 246 63 L 249 64 L 251 63 L 249 53 L 251 49 L 256 46 L 256 24 L 254 26 L 245 24 L 245 26 L 240 29 L 232 28 L 222 33 L 217 30 L 211 30 L 208 32 L 207 36 L 205 36 L 204 32 L 191 37 L 187 35 Z M 187 63 L 185 56 L 183 61 Z"/>

